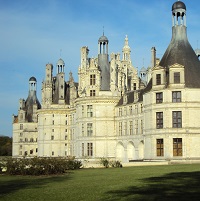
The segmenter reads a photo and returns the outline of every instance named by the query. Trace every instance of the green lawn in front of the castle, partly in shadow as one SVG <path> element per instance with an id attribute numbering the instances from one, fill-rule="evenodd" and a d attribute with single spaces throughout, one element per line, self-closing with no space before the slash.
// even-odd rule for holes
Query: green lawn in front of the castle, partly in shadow
<path id="1" fill-rule="evenodd" d="M 3 201 L 200 200 L 200 164 L 81 169 L 49 177 L 0 175 Z"/>

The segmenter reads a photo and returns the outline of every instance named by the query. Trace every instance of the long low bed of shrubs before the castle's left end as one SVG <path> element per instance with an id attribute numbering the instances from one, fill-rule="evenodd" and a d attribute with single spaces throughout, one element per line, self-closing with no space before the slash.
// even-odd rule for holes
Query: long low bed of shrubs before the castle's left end
<path id="1" fill-rule="evenodd" d="M 75 158 L 11 158 L 5 162 L 10 175 L 62 174 L 67 170 L 79 169 L 81 161 Z"/>

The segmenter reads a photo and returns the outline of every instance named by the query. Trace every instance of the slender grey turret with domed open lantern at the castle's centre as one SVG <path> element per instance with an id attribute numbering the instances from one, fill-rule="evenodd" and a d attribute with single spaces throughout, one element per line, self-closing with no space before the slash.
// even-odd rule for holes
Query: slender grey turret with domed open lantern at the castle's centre
<path id="1" fill-rule="evenodd" d="M 110 90 L 110 65 L 108 58 L 108 38 L 101 36 L 98 40 L 98 65 L 101 71 L 100 90 Z"/>

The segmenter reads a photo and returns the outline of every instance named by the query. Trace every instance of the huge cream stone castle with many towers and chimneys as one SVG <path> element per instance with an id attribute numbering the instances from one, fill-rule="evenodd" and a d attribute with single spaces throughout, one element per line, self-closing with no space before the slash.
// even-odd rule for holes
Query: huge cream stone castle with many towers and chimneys
<path id="1" fill-rule="evenodd" d="M 103 34 L 96 58 L 81 48 L 78 83 L 72 73 L 65 81 L 62 59 L 56 76 L 47 64 L 41 104 L 36 78 L 29 79 L 13 116 L 13 157 L 200 159 L 200 51 L 187 39 L 185 4 L 173 4 L 171 42 L 161 60 L 151 49 L 151 67 L 140 75 L 127 36 L 122 58 L 109 56 L 108 44 Z"/>

